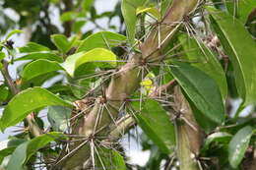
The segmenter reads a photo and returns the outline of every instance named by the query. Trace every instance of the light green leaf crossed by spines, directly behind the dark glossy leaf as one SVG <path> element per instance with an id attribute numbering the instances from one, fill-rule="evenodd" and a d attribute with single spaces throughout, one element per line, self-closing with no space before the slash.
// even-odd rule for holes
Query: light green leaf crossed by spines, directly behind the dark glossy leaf
<path id="1" fill-rule="evenodd" d="M 225 81 L 224 69 L 213 52 L 197 39 L 190 38 L 186 34 L 179 36 L 186 56 L 192 63 L 192 66 L 205 72 L 210 78 L 214 79 L 219 85 L 222 96 L 225 99 L 227 95 L 227 84 Z"/>

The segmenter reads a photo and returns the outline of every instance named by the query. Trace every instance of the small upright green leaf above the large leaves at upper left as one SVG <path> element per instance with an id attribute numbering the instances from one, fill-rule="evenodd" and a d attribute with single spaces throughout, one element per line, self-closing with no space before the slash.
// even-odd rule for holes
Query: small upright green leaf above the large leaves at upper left
<path id="1" fill-rule="evenodd" d="M 64 34 L 53 34 L 50 38 L 55 46 L 64 54 L 66 54 L 72 47 L 72 44 Z"/>

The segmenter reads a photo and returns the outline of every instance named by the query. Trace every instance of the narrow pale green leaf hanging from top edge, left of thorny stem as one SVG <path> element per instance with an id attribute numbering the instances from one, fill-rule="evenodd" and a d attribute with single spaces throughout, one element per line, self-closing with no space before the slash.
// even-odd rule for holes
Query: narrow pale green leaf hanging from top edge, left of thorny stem
<path id="1" fill-rule="evenodd" d="M 134 45 L 135 43 L 137 23 L 136 9 L 140 6 L 143 6 L 146 1 L 147 0 L 122 0 L 121 10 L 125 21 L 130 45 Z"/>

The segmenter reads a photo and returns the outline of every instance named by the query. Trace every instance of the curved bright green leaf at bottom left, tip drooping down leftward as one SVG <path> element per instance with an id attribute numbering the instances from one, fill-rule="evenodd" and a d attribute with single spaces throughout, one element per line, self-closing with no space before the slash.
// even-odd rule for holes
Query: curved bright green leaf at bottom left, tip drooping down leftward
<path id="1" fill-rule="evenodd" d="M 40 135 L 40 136 L 32 139 L 27 144 L 27 149 L 26 149 L 26 153 L 27 153 L 26 155 L 27 156 L 26 156 L 26 160 L 23 161 L 23 164 L 25 165 L 30 160 L 32 155 L 34 153 L 36 153 L 36 151 L 38 149 L 42 148 L 43 146 L 45 146 L 49 142 L 58 141 L 58 140 L 61 140 L 63 138 L 64 138 L 64 136 L 63 136 L 62 133 L 51 132 L 51 133 Z"/>

